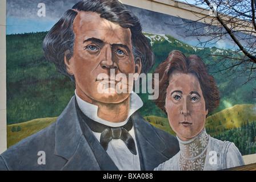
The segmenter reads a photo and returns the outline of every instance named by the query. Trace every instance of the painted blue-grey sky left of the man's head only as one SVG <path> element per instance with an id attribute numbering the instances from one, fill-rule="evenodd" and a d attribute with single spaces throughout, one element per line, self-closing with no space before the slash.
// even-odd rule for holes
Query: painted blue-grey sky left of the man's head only
<path id="1" fill-rule="evenodd" d="M 193 0 L 179 0 L 193 3 Z M 22 34 L 24 32 L 49 31 L 61 18 L 62 14 L 71 9 L 78 0 L 6 0 L 6 34 Z M 45 4 L 45 16 L 38 16 Z"/>

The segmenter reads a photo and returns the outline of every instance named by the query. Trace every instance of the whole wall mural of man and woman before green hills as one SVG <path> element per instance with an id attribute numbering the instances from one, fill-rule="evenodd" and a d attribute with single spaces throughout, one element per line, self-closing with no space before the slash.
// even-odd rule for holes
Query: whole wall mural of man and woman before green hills
<path id="1" fill-rule="evenodd" d="M 202 48 L 180 18 L 114 0 L 15 3 L 1 169 L 219 170 L 256 153 L 255 82 L 206 56 L 229 42 Z"/>

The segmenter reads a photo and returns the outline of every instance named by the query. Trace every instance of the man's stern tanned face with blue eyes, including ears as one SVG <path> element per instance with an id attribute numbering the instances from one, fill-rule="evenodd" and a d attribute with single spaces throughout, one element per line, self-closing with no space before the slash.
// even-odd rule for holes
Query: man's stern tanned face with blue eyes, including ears
<path id="1" fill-rule="evenodd" d="M 69 61 L 65 58 L 65 63 L 67 72 L 75 77 L 78 96 L 87 102 L 103 103 L 119 103 L 128 98 L 130 90 L 117 93 L 109 88 L 115 88 L 120 81 L 128 88 L 126 79 L 115 76 L 122 73 L 128 80 L 129 73 L 135 73 L 135 67 L 138 73 L 141 70 L 141 61 L 134 63 L 130 29 L 101 18 L 97 13 L 81 11 L 74 19 L 73 31 L 73 56 Z M 100 74 L 109 79 L 98 79 Z M 99 88 L 107 89 L 102 93 Z"/>

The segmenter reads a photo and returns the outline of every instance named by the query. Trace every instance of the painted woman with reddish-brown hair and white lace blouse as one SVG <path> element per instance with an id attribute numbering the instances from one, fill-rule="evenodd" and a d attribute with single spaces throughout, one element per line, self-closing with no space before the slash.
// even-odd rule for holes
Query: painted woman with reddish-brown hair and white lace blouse
<path id="1" fill-rule="evenodd" d="M 202 59 L 172 51 L 154 73 L 159 76 L 155 104 L 167 114 L 180 147 L 173 158 L 155 170 L 206 171 L 244 165 L 234 143 L 206 133 L 206 117 L 218 107 L 221 98 Z"/>

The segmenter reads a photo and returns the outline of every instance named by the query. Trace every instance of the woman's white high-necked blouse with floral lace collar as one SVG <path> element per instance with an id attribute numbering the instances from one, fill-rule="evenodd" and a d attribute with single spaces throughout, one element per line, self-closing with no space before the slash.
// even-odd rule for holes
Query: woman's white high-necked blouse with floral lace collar
<path id="1" fill-rule="evenodd" d="M 189 141 L 177 139 L 180 151 L 155 171 L 215 171 L 245 164 L 234 143 L 212 138 L 205 129 Z"/>

